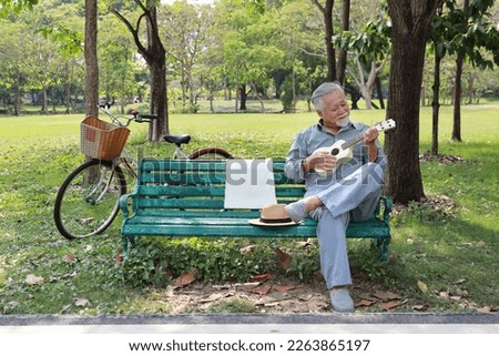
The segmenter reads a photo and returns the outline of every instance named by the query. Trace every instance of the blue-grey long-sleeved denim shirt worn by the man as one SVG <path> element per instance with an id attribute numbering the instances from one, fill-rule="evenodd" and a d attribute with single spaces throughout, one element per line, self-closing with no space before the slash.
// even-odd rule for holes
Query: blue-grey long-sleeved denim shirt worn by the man
<path id="1" fill-rule="evenodd" d="M 357 142 L 354 145 L 354 156 L 349 162 L 338 166 L 333 174 L 326 177 L 322 177 L 313 171 L 305 174 L 302 162 L 313 154 L 315 150 L 332 146 L 339 140 L 352 140 L 355 136 L 360 135 L 367 129 L 369 129 L 369 126 L 366 124 L 349 122 L 345 128 L 342 128 L 336 134 L 334 134 L 326 131 L 323 126 L 322 120 L 319 120 L 317 124 L 301 131 L 296 134 L 289 152 L 286 155 L 286 163 L 284 167 L 286 176 L 296 183 L 305 182 L 307 193 L 310 193 L 322 190 L 325 186 L 329 186 L 332 182 L 337 182 L 348 174 L 352 174 L 361 165 L 369 162 L 367 146 L 364 141 Z M 378 148 L 378 156 L 375 162 L 380 164 L 384 169 L 386 165 L 386 156 L 378 140 L 376 140 L 376 146 Z"/>

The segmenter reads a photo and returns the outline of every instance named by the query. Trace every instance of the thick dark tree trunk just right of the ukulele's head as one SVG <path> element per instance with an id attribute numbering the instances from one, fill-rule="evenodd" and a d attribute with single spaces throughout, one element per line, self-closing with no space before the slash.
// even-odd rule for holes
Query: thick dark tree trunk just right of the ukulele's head
<path id="1" fill-rule="evenodd" d="M 429 23 L 442 0 L 388 0 L 393 54 L 387 116 L 397 129 L 385 135 L 386 193 L 407 204 L 424 196 L 419 167 L 419 98 Z"/>

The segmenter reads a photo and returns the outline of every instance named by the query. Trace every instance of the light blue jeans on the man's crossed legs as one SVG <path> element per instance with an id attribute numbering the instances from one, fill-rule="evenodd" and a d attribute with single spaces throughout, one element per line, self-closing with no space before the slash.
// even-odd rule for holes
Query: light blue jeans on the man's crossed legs
<path id="1" fill-rule="evenodd" d="M 320 269 L 328 288 L 352 284 L 345 232 L 350 220 L 373 216 L 381 186 L 381 166 L 367 163 L 339 182 L 307 191 L 306 196 L 316 195 L 324 204 L 309 215 L 317 221 Z"/>

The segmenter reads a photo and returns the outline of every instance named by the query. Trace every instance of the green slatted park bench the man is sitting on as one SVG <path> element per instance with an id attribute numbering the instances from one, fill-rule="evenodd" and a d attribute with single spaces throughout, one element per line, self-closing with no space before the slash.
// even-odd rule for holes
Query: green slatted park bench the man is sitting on
<path id="1" fill-rule="evenodd" d="M 288 180 L 284 162 L 274 161 L 278 203 L 303 197 L 305 187 Z M 143 159 L 133 191 L 123 195 L 121 234 L 124 254 L 140 236 L 167 237 L 263 237 L 303 238 L 316 236 L 316 222 L 306 217 L 298 225 L 255 226 L 248 220 L 259 210 L 224 208 L 225 161 Z M 381 196 L 374 216 L 350 223 L 347 237 L 371 238 L 381 261 L 389 254 L 390 200 Z"/>

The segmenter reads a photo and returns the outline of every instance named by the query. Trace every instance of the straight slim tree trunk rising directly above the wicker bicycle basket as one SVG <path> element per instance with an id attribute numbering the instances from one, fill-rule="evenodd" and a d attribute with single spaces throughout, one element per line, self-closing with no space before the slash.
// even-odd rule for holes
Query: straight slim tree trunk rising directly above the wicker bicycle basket
<path id="1" fill-rule="evenodd" d="M 99 62 L 96 54 L 98 7 L 96 0 L 85 0 L 85 113 L 99 115 Z"/>

